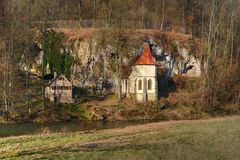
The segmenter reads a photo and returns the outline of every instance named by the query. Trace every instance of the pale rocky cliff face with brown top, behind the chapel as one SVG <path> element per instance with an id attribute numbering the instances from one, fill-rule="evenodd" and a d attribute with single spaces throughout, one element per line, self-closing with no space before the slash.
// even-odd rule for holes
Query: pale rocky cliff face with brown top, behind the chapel
<path id="1" fill-rule="evenodd" d="M 115 84 L 116 75 L 112 71 L 114 66 L 108 61 L 106 53 L 114 53 L 114 49 L 108 46 L 105 49 L 97 48 L 96 29 L 58 29 L 68 39 L 66 48 L 74 57 L 71 68 L 71 81 L 76 86 L 93 85 L 98 81 L 107 79 Z M 163 33 L 157 30 L 129 31 L 129 36 L 142 40 L 142 44 L 133 48 L 129 53 L 134 57 L 141 53 L 143 42 L 148 41 L 152 55 L 159 68 L 165 70 L 164 76 L 172 77 L 182 74 L 187 77 L 199 77 L 201 75 L 199 42 L 191 40 L 190 36 L 179 33 Z M 129 63 L 128 58 L 124 58 Z M 39 63 L 39 62 L 38 62 Z"/>

